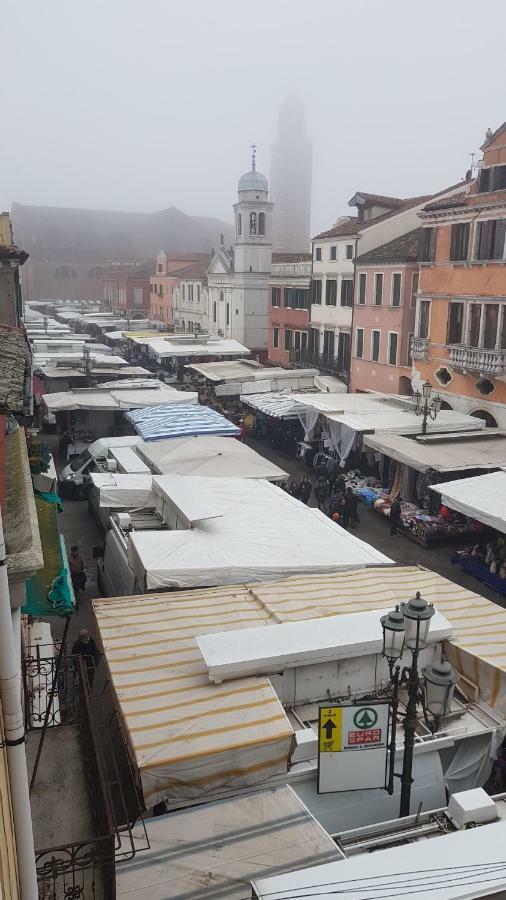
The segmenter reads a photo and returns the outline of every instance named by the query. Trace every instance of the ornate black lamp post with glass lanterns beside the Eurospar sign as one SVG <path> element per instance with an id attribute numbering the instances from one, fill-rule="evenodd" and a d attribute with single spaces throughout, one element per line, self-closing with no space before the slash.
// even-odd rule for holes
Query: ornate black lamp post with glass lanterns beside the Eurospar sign
<path id="1" fill-rule="evenodd" d="M 439 721 L 444 718 L 451 707 L 453 691 L 458 681 L 458 674 L 444 657 L 433 662 L 424 669 L 420 677 L 418 657 L 420 650 L 427 646 L 430 621 L 435 613 L 432 605 L 416 596 L 407 603 L 401 603 L 381 619 L 383 628 L 383 656 L 388 661 L 390 670 L 390 688 L 392 690 L 392 733 L 390 738 L 390 777 L 388 790 L 393 793 L 395 758 L 395 732 L 397 726 L 399 686 L 407 688 L 408 702 L 404 716 L 404 756 L 401 779 L 401 802 L 399 817 L 409 815 L 411 801 L 411 785 L 413 784 L 413 748 L 415 732 L 418 725 L 417 704 L 421 702 L 425 720 L 432 731 L 436 731 Z M 402 669 L 399 660 L 404 648 L 411 651 L 411 665 Z M 429 719 L 432 716 L 432 722 Z"/>

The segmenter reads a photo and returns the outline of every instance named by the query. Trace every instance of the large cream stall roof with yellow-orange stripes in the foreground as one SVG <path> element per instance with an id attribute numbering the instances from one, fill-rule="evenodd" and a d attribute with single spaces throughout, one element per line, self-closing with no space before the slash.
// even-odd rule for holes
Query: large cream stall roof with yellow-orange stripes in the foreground
<path id="1" fill-rule="evenodd" d="M 147 805 L 208 801 L 288 768 L 291 727 L 270 681 L 212 684 L 197 636 L 392 608 L 416 591 L 452 623 L 446 653 L 454 665 L 504 715 L 506 610 L 419 566 L 94 600 Z"/>

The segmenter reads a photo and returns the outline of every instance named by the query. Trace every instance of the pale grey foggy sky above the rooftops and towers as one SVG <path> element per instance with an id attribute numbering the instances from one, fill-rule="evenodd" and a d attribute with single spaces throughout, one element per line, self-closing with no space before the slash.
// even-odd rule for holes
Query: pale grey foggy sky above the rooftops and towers
<path id="1" fill-rule="evenodd" d="M 4 0 L 0 208 L 14 201 L 232 221 L 249 145 L 267 176 L 295 89 L 312 233 L 356 190 L 464 176 L 506 119 L 504 0 Z"/>

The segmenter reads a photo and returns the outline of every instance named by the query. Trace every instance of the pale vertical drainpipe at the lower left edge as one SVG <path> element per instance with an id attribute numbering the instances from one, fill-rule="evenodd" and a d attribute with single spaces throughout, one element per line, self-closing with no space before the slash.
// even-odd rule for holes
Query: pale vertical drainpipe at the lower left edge
<path id="1" fill-rule="evenodd" d="M 0 700 L 2 701 L 7 765 L 16 837 L 22 900 L 37 900 L 37 872 L 32 811 L 26 768 L 25 724 L 21 705 L 21 667 L 14 642 L 7 580 L 7 560 L 0 513 Z"/>

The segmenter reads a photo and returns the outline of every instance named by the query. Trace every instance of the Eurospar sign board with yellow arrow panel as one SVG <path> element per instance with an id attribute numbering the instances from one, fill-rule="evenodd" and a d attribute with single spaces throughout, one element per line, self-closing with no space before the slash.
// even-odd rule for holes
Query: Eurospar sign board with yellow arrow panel
<path id="1" fill-rule="evenodd" d="M 390 704 L 321 706 L 318 793 L 385 787 Z"/>

